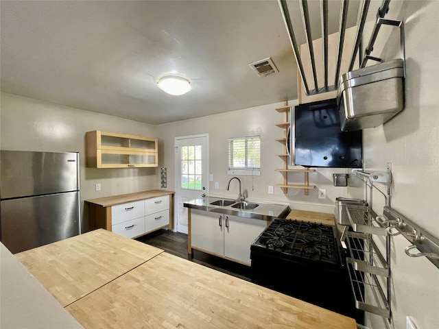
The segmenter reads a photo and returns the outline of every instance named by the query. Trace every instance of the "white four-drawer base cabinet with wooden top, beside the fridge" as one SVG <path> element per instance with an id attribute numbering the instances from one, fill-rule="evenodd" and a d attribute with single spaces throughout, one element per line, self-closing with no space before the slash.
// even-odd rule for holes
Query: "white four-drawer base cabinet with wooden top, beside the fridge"
<path id="1" fill-rule="evenodd" d="M 91 230 L 104 228 L 128 238 L 161 228 L 172 230 L 173 195 L 152 190 L 86 200 Z"/>

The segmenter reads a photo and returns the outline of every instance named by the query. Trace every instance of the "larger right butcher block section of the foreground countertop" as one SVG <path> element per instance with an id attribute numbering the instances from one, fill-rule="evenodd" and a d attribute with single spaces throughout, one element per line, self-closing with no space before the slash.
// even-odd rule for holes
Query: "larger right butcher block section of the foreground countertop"
<path id="1" fill-rule="evenodd" d="M 84 328 L 356 328 L 354 319 L 166 252 L 66 309 Z"/>

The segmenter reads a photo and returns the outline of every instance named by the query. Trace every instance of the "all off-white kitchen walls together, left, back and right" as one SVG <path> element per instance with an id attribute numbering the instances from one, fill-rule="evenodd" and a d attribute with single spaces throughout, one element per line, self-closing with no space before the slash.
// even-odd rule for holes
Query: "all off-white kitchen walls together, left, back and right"
<path id="1" fill-rule="evenodd" d="M 377 3 L 381 1 L 377 1 Z M 366 168 L 385 169 L 393 164 L 394 194 L 392 206 L 406 217 L 416 221 L 431 234 L 439 237 L 439 1 L 392 1 L 388 15 L 405 21 L 406 35 L 406 107 L 397 117 L 377 128 L 364 130 L 364 159 Z M 385 34 L 384 34 L 385 35 Z M 396 38 L 396 39 L 394 39 Z M 399 40 L 393 33 L 388 40 L 377 42 L 385 46 L 385 58 L 394 58 Z M 395 45 L 396 43 L 396 45 Z M 210 194 L 235 197 L 237 191 L 225 186 L 227 175 L 227 138 L 261 135 L 262 175 L 244 177 L 243 187 L 249 199 L 267 199 L 290 204 L 292 208 L 332 212 L 335 197 L 358 197 L 361 188 L 342 188 L 332 185 L 332 173 L 344 169 L 318 169 L 310 175 L 310 184 L 327 189 L 327 199 L 320 200 L 317 191 L 309 196 L 302 190 L 289 189 L 285 195 L 268 185 L 283 181 L 274 171 L 283 165 L 274 156 L 281 153 L 282 145 L 275 138 L 283 134 L 274 124 L 283 121 L 274 110 L 282 103 L 248 108 L 210 117 L 169 123 L 157 127 L 96 114 L 84 110 L 1 94 L 1 149 L 32 149 L 37 151 L 80 151 L 82 199 L 136 192 L 158 188 L 156 169 L 86 169 L 85 132 L 108 130 L 159 138 L 159 167 L 167 167 L 168 188 L 174 188 L 174 137 L 209 134 L 210 167 L 214 175 Z M 291 174 L 289 182 L 301 182 L 302 174 Z M 102 183 L 102 192 L 94 192 L 94 184 Z M 219 182 L 215 190 L 214 182 Z M 354 184 L 355 180 L 353 180 Z M 254 188 L 252 188 L 252 186 Z M 232 187 L 232 186 L 231 186 Z M 359 192 L 360 191 L 360 192 Z M 383 202 L 374 196 L 374 209 L 381 213 Z M 412 315 L 418 329 L 439 328 L 439 269 L 425 258 L 409 258 L 403 252 L 409 245 L 401 236 L 392 238 L 392 328 L 405 328 L 405 316 Z M 385 328 L 379 317 L 368 317 L 375 329 Z"/>

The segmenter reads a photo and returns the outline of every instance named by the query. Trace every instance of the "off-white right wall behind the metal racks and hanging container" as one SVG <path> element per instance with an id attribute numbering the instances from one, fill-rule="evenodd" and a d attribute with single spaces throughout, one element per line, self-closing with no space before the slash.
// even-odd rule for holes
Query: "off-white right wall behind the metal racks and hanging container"
<path id="1" fill-rule="evenodd" d="M 392 1 L 386 19 L 405 22 L 406 104 L 388 123 L 364 130 L 365 167 L 385 169 L 392 162 L 392 208 L 439 238 L 439 1 Z M 399 58 L 399 29 L 381 30 L 372 55 Z M 383 197 L 374 193 L 373 199 L 382 213 Z M 439 269 L 425 257 L 406 256 L 407 245 L 402 236 L 392 237 L 392 328 L 405 328 L 407 315 L 418 329 L 439 328 Z M 387 327 L 379 317 L 368 321 Z"/>

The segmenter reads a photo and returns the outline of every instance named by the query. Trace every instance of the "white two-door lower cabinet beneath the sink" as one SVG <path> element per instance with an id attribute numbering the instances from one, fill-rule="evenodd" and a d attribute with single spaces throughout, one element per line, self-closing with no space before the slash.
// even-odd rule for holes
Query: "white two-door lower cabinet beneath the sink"
<path id="1" fill-rule="evenodd" d="M 191 209 L 191 247 L 250 265 L 250 245 L 266 221 Z"/>

